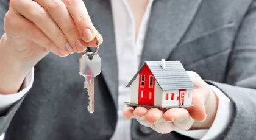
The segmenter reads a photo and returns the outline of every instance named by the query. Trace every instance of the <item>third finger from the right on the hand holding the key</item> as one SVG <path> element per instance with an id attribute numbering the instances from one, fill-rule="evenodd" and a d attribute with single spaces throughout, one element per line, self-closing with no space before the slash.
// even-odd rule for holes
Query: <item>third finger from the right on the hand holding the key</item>
<path id="1" fill-rule="evenodd" d="M 48 12 L 37 2 L 29 0 L 16 1 L 14 6 L 16 12 L 34 23 L 57 46 L 62 55 L 66 56 L 72 53 L 70 51 L 70 44 L 62 30 L 55 24 Z"/>

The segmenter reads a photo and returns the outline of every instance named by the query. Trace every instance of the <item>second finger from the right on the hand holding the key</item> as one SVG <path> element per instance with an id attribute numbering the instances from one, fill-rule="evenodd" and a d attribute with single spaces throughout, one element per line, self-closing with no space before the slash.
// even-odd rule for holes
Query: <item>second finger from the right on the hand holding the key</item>
<path id="1" fill-rule="evenodd" d="M 60 27 L 68 40 L 70 46 L 67 46 L 69 52 L 84 52 L 87 49 L 86 43 L 77 44 L 76 41 L 80 39 L 76 24 L 66 8 L 66 5 L 61 0 L 34 0 L 41 5 L 49 13 L 51 18 Z M 60 16 L 61 13 L 61 16 Z"/>

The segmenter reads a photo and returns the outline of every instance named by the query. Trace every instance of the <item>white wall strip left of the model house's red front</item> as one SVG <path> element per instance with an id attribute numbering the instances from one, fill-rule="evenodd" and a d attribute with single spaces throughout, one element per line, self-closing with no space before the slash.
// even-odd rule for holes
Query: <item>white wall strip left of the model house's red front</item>
<path id="1" fill-rule="evenodd" d="M 130 103 L 138 104 L 138 84 L 139 77 L 137 75 L 136 79 L 130 85 Z"/>

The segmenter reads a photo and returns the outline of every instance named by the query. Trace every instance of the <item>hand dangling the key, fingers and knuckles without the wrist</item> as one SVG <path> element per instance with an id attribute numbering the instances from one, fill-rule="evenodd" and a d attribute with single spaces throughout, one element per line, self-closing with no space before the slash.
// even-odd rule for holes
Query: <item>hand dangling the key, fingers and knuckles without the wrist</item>
<path id="1" fill-rule="evenodd" d="M 96 46 L 95 35 L 102 43 L 82 0 L 11 0 L 4 22 L 8 47 L 23 50 L 18 56 L 30 60 L 48 51 L 60 57 L 84 52 Z"/>

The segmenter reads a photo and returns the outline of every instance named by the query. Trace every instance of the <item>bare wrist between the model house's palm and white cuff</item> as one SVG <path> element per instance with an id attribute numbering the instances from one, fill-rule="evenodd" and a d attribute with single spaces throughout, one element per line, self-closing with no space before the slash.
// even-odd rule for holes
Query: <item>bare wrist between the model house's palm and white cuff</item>
<path id="1" fill-rule="evenodd" d="M 217 110 L 218 110 L 218 97 L 216 96 L 215 92 L 211 89 L 210 96 L 205 105 L 205 111 L 207 114 L 207 118 L 205 119 L 204 122 L 196 122 L 195 121 L 191 127 L 191 130 L 209 129 L 215 120 Z"/>

